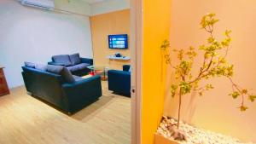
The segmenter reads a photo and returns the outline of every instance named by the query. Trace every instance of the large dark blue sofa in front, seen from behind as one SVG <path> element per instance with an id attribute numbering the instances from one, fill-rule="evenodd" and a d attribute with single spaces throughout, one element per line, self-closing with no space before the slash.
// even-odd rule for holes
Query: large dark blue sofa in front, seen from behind
<path id="1" fill-rule="evenodd" d="M 29 94 L 69 114 L 79 111 L 102 96 L 99 76 L 91 78 L 73 76 L 75 81 L 70 83 L 62 75 L 54 72 L 28 66 L 22 66 L 22 69 L 22 76 Z"/>

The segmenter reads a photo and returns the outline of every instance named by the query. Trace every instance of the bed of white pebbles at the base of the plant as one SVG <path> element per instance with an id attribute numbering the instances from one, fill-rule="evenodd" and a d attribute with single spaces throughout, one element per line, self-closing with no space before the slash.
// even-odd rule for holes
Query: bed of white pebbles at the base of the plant
<path id="1" fill-rule="evenodd" d="M 174 118 L 163 117 L 157 134 L 180 144 L 253 144 L 253 142 L 241 142 L 228 135 L 198 129 L 183 122 L 180 123 L 179 130 L 177 130 L 176 125 L 177 121 Z"/>

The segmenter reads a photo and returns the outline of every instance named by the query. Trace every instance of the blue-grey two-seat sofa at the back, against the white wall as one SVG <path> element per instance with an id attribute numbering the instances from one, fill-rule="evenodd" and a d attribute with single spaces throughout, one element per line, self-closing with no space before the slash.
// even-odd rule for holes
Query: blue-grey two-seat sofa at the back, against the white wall
<path id="1" fill-rule="evenodd" d="M 51 57 L 52 61 L 49 65 L 66 66 L 67 69 L 76 76 L 84 76 L 90 72 L 87 66 L 93 65 L 93 60 L 88 58 L 81 58 L 79 54 L 73 55 L 54 55 Z"/>

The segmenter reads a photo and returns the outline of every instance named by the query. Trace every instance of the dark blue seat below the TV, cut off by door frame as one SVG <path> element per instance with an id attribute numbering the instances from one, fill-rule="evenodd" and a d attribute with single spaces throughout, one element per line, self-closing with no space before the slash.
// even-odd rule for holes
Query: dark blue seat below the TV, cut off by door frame
<path id="1" fill-rule="evenodd" d="M 123 71 L 108 71 L 108 89 L 116 94 L 131 95 L 131 72 L 130 66 L 124 65 Z"/>

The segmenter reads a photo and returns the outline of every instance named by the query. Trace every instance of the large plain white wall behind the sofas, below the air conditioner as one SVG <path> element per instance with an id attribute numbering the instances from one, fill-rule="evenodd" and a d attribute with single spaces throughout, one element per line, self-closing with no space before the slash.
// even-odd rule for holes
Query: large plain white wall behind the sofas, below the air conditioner
<path id="1" fill-rule="evenodd" d="M 92 57 L 89 17 L 24 7 L 15 0 L 0 1 L 0 65 L 6 67 L 10 88 L 23 84 L 24 61 L 46 64 L 51 55 L 77 52 Z"/>

